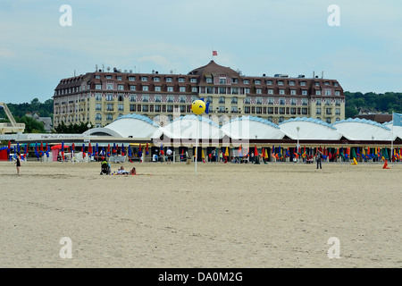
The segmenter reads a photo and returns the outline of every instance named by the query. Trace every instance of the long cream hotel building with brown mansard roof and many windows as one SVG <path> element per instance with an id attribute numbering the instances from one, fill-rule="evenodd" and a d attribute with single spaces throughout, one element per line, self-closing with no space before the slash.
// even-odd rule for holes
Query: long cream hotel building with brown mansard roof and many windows
<path id="1" fill-rule="evenodd" d="M 274 123 L 312 117 L 345 119 L 345 96 L 338 80 L 276 74 L 243 76 L 214 61 L 186 75 L 98 70 L 60 80 L 54 89 L 54 127 L 91 122 L 103 127 L 123 114 L 192 114 L 191 103 L 210 102 L 209 116 L 259 116 Z M 160 118 L 162 118 L 161 116 Z M 222 118 L 222 117 L 221 117 Z"/>

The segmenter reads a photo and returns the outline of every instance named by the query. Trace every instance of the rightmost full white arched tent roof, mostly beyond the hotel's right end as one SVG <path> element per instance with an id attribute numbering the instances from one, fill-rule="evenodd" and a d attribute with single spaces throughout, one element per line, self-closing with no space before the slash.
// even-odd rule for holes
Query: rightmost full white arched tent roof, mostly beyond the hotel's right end
<path id="1" fill-rule="evenodd" d="M 348 140 L 383 140 L 391 139 L 390 129 L 371 120 L 349 118 L 333 123 L 333 126 Z"/>

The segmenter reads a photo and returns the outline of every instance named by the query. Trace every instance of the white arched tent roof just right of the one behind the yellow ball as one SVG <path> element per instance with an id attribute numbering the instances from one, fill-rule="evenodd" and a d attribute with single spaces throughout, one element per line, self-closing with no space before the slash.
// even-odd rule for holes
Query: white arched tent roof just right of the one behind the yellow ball
<path id="1" fill-rule="evenodd" d="M 242 116 L 222 125 L 222 131 L 232 139 L 283 139 L 278 125 L 255 116 Z"/>

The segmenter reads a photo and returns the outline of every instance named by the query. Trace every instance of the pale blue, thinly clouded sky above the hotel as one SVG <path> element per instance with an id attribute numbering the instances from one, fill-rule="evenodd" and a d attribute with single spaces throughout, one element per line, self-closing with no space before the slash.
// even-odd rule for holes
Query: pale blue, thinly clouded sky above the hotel
<path id="1" fill-rule="evenodd" d="M 96 64 L 187 74 L 211 60 L 247 76 L 323 74 L 345 91 L 402 92 L 401 51 L 397 0 L 0 1 L 6 103 L 44 102 Z"/>

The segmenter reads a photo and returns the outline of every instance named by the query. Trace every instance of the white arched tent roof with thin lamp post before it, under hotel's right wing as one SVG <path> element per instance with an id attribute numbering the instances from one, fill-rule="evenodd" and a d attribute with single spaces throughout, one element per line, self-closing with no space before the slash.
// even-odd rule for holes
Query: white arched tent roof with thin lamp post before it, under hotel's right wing
<path id="1" fill-rule="evenodd" d="M 281 130 L 290 138 L 297 140 L 339 140 L 342 134 L 331 124 L 310 117 L 297 117 L 281 122 Z M 298 135 L 297 135 L 297 127 Z"/>

